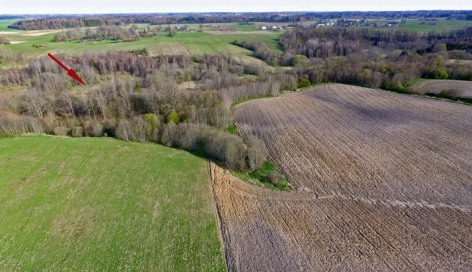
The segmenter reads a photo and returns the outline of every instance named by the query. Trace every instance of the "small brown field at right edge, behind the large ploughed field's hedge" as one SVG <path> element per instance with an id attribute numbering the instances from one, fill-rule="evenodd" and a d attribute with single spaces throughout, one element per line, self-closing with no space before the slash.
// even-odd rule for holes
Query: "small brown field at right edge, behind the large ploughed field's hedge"
<path id="1" fill-rule="evenodd" d="M 443 89 L 456 89 L 460 92 L 458 97 L 472 98 L 472 81 L 449 80 L 449 79 L 429 79 L 417 82 L 414 88 L 423 89 L 426 92 L 439 94 Z"/>

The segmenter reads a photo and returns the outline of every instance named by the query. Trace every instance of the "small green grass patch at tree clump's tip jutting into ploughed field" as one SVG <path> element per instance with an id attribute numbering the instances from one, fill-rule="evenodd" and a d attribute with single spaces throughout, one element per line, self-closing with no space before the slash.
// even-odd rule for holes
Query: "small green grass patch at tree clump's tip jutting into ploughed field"
<path id="1" fill-rule="evenodd" d="M 244 182 L 259 187 L 280 191 L 294 190 L 294 188 L 288 183 L 287 177 L 270 161 L 265 161 L 262 168 L 254 172 L 243 170 L 230 170 L 230 172 Z M 267 178 L 270 175 L 277 177 L 277 184 L 273 185 L 267 181 Z"/>

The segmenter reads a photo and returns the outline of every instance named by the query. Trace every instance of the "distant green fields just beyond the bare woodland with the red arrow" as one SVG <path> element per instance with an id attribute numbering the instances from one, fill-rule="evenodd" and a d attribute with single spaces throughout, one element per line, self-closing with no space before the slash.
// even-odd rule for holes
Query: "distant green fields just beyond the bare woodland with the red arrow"
<path id="1" fill-rule="evenodd" d="M 0 27 L 7 29 L 7 25 L 13 20 L 0 21 Z M 81 44 L 78 42 L 55 42 L 54 33 L 28 36 L 28 32 L 13 30 L 12 34 L 4 35 L 11 42 L 20 42 L 16 44 L 4 45 L 14 53 L 22 52 L 26 58 L 38 57 L 47 53 L 67 53 L 81 54 L 87 51 L 128 51 L 134 49 L 146 48 L 151 55 L 159 54 L 219 54 L 221 52 L 231 53 L 234 56 L 252 56 L 250 50 L 232 45 L 235 39 L 240 41 L 261 40 L 271 49 L 281 50 L 277 43 L 278 36 L 281 34 L 231 34 L 231 35 L 210 35 L 203 32 L 179 32 L 176 37 L 170 37 L 166 32 L 160 33 L 159 37 L 142 38 L 134 42 L 111 42 L 99 41 L 94 43 Z M 42 47 L 33 47 L 33 44 L 42 45 Z"/>

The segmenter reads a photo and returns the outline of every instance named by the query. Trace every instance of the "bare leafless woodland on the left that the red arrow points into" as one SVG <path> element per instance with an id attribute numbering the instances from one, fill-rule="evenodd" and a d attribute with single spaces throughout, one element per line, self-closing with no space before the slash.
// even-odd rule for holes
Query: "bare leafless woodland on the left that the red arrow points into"
<path id="1" fill-rule="evenodd" d="M 48 57 L 27 67 L 0 70 L 0 88 L 24 92 L 0 95 L 0 131 L 7 134 L 115 136 L 154 141 L 205 153 L 227 167 L 256 169 L 267 152 L 262 142 L 244 142 L 226 132 L 230 106 L 254 97 L 278 95 L 292 76 L 245 73 L 257 69 L 228 55 L 147 57 L 106 53 L 57 56 L 87 83 L 66 76 Z M 196 83 L 195 88 L 187 88 Z"/>

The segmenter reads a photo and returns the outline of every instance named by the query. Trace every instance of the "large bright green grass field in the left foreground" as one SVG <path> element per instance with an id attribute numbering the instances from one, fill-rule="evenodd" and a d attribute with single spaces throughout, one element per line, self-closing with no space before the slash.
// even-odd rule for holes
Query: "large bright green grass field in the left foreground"
<path id="1" fill-rule="evenodd" d="M 208 162 L 111 138 L 0 139 L 1 271 L 224 271 Z"/>

